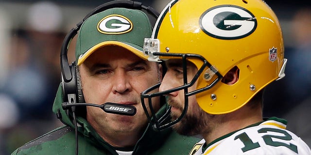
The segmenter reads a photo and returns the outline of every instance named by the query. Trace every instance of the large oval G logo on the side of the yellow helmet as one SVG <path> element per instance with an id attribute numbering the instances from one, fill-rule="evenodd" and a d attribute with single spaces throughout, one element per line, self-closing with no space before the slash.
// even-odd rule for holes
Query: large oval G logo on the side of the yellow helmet
<path id="1" fill-rule="evenodd" d="M 256 17 L 248 10 L 234 5 L 220 5 L 205 11 L 199 21 L 202 31 L 218 39 L 240 39 L 257 28 Z"/>

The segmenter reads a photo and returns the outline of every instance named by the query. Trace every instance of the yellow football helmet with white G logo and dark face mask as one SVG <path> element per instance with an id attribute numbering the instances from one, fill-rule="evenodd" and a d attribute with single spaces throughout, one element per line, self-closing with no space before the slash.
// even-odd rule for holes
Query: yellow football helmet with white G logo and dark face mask
<path id="1" fill-rule="evenodd" d="M 279 21 L 262 0 L 172 0 L 161 12 L 152 38 L 145 39 L 144 52 L 150 61 L 182 59 L 199 71 L 190 83 L 173 90 L 144 91 L 142 100 L 183 89 L 185 98 L 195 94 L 209 114 L 241 108 L 266 85 L 285 76 L 287 61 Z M 233 85 L 221 82 L 235 66 L 239 80 Z M 186 91 L 196 80 L 197 90 Z"/>

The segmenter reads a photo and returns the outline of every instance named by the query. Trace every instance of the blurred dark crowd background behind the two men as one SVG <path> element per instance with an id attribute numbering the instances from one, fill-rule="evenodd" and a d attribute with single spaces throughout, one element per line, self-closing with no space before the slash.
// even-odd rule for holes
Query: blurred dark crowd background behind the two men
<path id="1" fill-rule="evenodd" d="M 0 0 L 0 155 L 62 125 L 52 104 L 61 79 L 63 39 L 107 1 Z M 160 11 L 169 0 L 138 1 Z M 288 129 L 311 146 L 311 1 L 266 3 L 280 20 L 288 65 L 286 77 L 265 91 L 264 116 L 287 119 Z M 70 62 L 74 47 L 69 47 Z"/>

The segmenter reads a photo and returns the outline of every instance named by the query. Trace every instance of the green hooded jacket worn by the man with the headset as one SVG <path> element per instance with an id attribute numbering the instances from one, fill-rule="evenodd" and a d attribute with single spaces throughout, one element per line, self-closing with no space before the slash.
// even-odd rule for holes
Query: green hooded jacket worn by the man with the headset
<path id="1" fill-rule="evenodd" d="M 62 109 L 61 86 L 57 91 L 53 112 L 61 113 L 66 124 L 17 148 L 11 155 L 75 155 L 75 130 L 69 115 Z M 83 118 L 77 117 L 79 155 L 118 155 Z M 199 139 L 178 135 L 171 129 L 154 131 L 150 125 L 134 146 L 133 155 L 188 155 Z M 125 149 L 125 148 L 124 148 Z M 118 149 L 120 150 L 120 148 Z"/>

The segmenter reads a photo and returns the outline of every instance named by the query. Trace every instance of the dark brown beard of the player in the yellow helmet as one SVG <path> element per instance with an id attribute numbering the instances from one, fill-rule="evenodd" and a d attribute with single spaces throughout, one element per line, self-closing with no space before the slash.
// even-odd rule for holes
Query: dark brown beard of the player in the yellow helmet
<path id="1" fill-rule="evenodd" d="M 168 103 L 174 108 L 179 109 L 181 112 L 183 111 L 183 108 L 173 100 L 169 99 Z M 185 116 L 177 124 L 172 126 L 173 130 L 178 134 L 185 136 L 194 136 L 211 132 L 215 125 L 213 120 L 216 115 L 208 114 L 203 109 L 201 109 L 197 103 L 194 103 L 190 106 L 193 106 L 191 108 L 192 111 L 189 111 L 188 108 Z M 177 114 L 176 112 L 171 112 L 172 121 L 176 120 L 178 117 L 180 117 L 180 115 L 181 113 Z"/>

